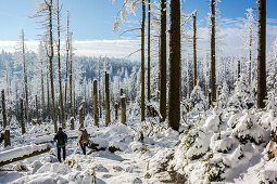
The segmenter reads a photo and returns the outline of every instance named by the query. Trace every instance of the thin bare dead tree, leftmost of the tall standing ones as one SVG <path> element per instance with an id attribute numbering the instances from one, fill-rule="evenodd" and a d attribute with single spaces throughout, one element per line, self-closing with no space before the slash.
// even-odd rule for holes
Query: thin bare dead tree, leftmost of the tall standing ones
<path id="1" fill-rule="evenodd" d="M 27 122 L 29 124 L 30 118 L 29 118 L 29 101 L 28 101 L 28 75 L 27 75 L 27 66 L 26 66 L 24 30 L 22 30 L 22 56 L 23 56 L 24 88 L 25 88 L 25 100 L 26 100 L 26 117 L 27 117 Z"/>

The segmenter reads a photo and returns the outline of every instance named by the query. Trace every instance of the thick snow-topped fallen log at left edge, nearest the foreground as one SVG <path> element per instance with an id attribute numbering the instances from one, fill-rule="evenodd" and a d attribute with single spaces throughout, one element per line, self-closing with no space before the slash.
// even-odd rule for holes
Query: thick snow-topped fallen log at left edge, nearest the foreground
<path id="1" fill-rule="evenodd" d="M 9 165 L 15 161 L 24 160 L 29 157 L 34 157 L 40 154 L 49 152 L 51 148 L 49 145 L 28 145 L 10 150 L 2 152 L 0 154 L 0 167 Z"/>

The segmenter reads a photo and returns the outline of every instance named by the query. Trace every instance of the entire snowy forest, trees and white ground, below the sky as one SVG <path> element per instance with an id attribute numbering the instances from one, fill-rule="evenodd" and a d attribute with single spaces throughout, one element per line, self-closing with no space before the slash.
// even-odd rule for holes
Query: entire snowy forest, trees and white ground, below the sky
<path id="1" fill-rule="evenodd" d="M 122 6 L 111 31 L 140 41 L 122 57 L 75 54 L 63 3 L 36 1 L 36 51 L 21 29 L 14 51 L 0 52 L 0 184 L 277 183 L 266 0 L 244 11 L 243 51 L 232 55 L 221 0 L 201 2 L 209 40 L 199 10 L 182 11 L 189 1 L 109 1 Z"/>

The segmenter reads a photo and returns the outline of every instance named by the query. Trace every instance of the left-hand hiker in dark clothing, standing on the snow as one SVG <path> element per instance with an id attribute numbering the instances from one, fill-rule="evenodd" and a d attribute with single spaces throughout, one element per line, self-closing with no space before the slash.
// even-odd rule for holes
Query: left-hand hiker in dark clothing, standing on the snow
<path id="1" fill-rule="evenodd" d="M 63 132 L 62 128 L 59 128 L 59 131 L 54 135 L 54 142 L 56 141 L 56 148 L 58 148 L 58 159 L 60 162 L 61 160 L 61 148 L 63 148 L 63 160 L 65 160 L 65 143 L 67 141 L 66 133 Z"/>

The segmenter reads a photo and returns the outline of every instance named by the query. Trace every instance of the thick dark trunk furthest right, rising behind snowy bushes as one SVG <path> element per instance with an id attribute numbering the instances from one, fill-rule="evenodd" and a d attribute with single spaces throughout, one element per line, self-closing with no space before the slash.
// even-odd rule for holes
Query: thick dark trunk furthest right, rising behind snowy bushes
<path id="1" fill-rule="evenodd" d="M 264 108 L 266 98 L 266 0 L 259 0 L 257 34 L 257 107 Z"/>

